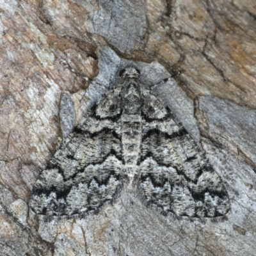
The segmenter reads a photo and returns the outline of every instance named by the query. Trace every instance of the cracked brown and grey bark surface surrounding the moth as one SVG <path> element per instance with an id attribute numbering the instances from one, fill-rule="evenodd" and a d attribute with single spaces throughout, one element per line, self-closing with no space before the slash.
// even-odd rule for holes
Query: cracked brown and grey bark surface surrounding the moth
<path id="1" fill-rule="evenodd" d="M 254 1 L 3 0 L 0 8 L 0 254 L 255 254 Z M 61 93 L 72 95 L 76 124 L 88 97 L 103 93 L 89 95 L 60 60 L 107 86 L 106 46 L 123 59 L 158 61 L 175 79 L 157 93 L 224 180 L 228 220 L 166 220 L 134 195 L 82 220 L 44 223 L 29 211 L 31 188 L 62 140 Z M 114 53 L 111 63 L 120 60 Z"/>

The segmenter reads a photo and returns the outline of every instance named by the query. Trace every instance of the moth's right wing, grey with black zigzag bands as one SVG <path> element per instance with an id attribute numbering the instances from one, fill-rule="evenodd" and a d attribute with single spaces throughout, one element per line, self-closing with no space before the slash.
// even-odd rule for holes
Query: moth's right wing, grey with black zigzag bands
<path id="1" fill-rule="evenodd" d="M 164 215 L 215 218 L 230 210 L 223 181 L 161 100 L 145 90 L 140 195 Z"/>

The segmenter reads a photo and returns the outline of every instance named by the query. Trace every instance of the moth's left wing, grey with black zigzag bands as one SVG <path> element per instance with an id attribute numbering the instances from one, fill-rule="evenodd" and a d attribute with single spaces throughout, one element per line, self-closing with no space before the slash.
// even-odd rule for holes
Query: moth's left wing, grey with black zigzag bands
<path id="1" fill-rule="evenodd" d="M 81 216 L 115 200 L 123 180 L 118 95 L 118 88 L 109 91 L 63 141 L 31 193 L 36 214 Z"/>

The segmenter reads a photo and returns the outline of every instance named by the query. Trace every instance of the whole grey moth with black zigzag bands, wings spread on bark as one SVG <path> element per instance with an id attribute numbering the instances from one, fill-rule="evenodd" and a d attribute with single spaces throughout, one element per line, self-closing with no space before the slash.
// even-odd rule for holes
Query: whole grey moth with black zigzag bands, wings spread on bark
<path id="1" fill-rule="evenodd" d="M 45 217 L 100 211 L 122 190 L 163 215 L 218 218 L 230 210 L 227 190 L 182 124 L 127 67 L 63 141 L 31 192 Z"/>

